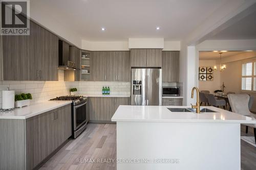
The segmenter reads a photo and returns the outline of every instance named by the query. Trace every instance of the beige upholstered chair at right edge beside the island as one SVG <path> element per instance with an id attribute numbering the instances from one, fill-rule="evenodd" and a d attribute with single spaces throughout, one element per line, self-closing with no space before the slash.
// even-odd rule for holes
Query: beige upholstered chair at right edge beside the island
<path id="1" fill-rule="evenodd" d="M 256 115 L 249 110 L 250 96 L 248 94 L 228 94 L 228 100 L 232 112 L 238 113 L 244 116 L 256 118 Z M 243 124 L 246 126 L 246 133 L 248 133 L 248 126 L 253 128 L 254 139 L 256 142 L 256 124 Z"/>

